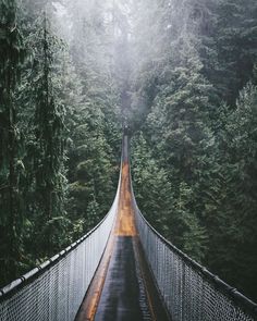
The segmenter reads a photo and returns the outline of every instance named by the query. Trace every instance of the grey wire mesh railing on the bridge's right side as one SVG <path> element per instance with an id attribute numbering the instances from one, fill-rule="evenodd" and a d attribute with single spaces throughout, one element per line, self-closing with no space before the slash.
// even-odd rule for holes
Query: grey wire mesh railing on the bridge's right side
<path id="1" fill-rule="evenodd" d="M 166 240 L 136 210 L 140 243 L 172 321 L 254 321 L 257 305 Z"/>

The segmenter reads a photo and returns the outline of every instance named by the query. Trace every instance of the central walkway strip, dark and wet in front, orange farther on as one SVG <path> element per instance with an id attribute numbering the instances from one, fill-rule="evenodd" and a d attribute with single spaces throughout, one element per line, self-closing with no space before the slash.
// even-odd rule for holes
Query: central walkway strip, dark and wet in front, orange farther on
<path id="1" fill-rule="evenodd" d="M 137 259 L 137 236 L 132 208 L 128 164 L 122 169 L 115 239 L 96 321 L 152 320 L 150 303 Z"/>

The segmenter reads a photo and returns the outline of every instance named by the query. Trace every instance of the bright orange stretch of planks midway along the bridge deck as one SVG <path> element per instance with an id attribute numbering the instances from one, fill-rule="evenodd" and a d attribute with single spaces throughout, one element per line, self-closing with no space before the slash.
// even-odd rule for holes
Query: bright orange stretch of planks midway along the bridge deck
<path id="1" fill-rule="evenodd" d="M 135 219 L 132 205 L 130 166 L 125 162 L 122 165 L 122 181 L 119 201 L 119 214 L 115 225 L 115 235 L 118 236 L 135 236 Z"/>

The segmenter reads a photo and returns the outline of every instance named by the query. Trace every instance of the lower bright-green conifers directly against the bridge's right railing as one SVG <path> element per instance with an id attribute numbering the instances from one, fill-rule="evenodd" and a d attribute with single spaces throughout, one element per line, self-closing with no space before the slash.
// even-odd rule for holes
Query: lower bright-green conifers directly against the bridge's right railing
<path id="1" fill-rule="evenodd" d="M 193 190 L 169 181 L 168 172 L 152 158 L 140 133 L 133 139 L 133 182 L 138 207 L 163 236 L 198 261 L 206 251 L 207 235 L 197 215 L 189 210 Z"/>

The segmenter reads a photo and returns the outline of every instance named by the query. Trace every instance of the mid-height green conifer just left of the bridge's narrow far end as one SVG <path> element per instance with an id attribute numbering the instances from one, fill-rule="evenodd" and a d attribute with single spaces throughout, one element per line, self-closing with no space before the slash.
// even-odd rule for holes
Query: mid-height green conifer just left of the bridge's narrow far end
<path id="1" fill-rule="evenodd" d="M 94 225 L 93 219 L 88 218 L 94 203 L 95 223 L 109 210 L 114 197 L 118 174 L 110 157 L 111 148 L 103 136 L 103 114 L 99 114 L 97 123 L 97 115 L 91 118 L 90 108 L 89 104 L 85 107 L 85 119 L 81 119 L 82 125 L 78 124 L 74 128 L 72 140 L 75 144 L 69 151 L 73 182 L 69 188 L 70 197 L 73 199 L 69 212 L 72 217 L 85 218 L 85 231 Z"/>

